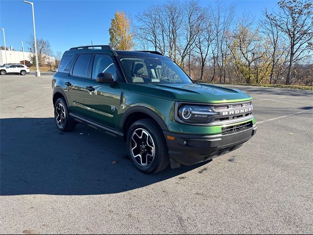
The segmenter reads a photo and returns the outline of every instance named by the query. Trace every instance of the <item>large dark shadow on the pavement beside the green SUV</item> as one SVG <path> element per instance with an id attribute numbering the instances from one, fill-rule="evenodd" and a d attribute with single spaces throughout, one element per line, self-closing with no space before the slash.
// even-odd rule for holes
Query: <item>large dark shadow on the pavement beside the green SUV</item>
<path id="1" fill-rule="evenodd" d="M 54 118 L 0 119 L 0 195 L 94 195 L 145 187 L 199 167 L 145 175 L 124 141 L 77 125 L 61 132 Z"/>

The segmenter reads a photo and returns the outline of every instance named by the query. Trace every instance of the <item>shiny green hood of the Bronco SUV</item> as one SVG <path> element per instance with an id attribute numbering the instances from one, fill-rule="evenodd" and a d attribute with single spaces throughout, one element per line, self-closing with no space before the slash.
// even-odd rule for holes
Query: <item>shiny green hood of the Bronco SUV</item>
<path id="1" fill-rule="evenodd" d="M 175 101 L 199 103 L 240 102 L 252 99 L 248 94 L 229 88 L 202 83 L 192 84 L 135 84 L 129 83 L 134 93 L 156 96 Z"/>

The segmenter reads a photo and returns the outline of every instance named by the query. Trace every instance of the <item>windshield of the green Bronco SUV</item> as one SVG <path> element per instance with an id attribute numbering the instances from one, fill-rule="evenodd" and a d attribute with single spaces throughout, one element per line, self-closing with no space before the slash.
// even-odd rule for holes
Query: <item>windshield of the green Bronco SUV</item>
<path id="1" fill-rule="evenodd" d="M 193 83 L 170 59 L 119 56 L 122 70 L 130 83 Z"/>

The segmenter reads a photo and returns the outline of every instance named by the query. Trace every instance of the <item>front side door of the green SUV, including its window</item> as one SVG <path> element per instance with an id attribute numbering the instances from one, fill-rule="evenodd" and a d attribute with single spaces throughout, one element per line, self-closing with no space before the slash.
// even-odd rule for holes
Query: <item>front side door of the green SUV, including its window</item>
<path id="1" fill-rule="evenodd" d="M 95 54 L 94 56 L 91 79 L 87 79 L 85 82 L 84 103 L 89 111 L 86 118 L 115 129 L 120 108 L 121 84 L 97 83 L 97 75 L 101 72 L 110 72 L 114 81 L 118 80 L 110 55 Z M 92 89 L 90 90 L 90 88 Z"/>

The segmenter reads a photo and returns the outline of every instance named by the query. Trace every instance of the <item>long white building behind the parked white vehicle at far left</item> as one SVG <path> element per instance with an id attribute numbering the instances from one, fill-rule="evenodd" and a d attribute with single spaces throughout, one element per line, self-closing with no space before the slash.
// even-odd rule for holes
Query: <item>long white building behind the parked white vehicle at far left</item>
<path id="1" fill-rule="evenodd" d="M 0 65 L 9 64 L 9 63 L 20 64 L 20 62 L 23 60 L 30 61 L 30 57 L 32 55 L 33 53 L 24 51 L 24 59 L 23 59 L 22 51 L 7 50 L 6 51 L 7 61 L 5 61 L 5 50 L 0 50 Z M 48 61 L 50 61 L 53 64 L 55 62 L 55 57 L 47 56 L 45 63 L 47 64 Z"/>

